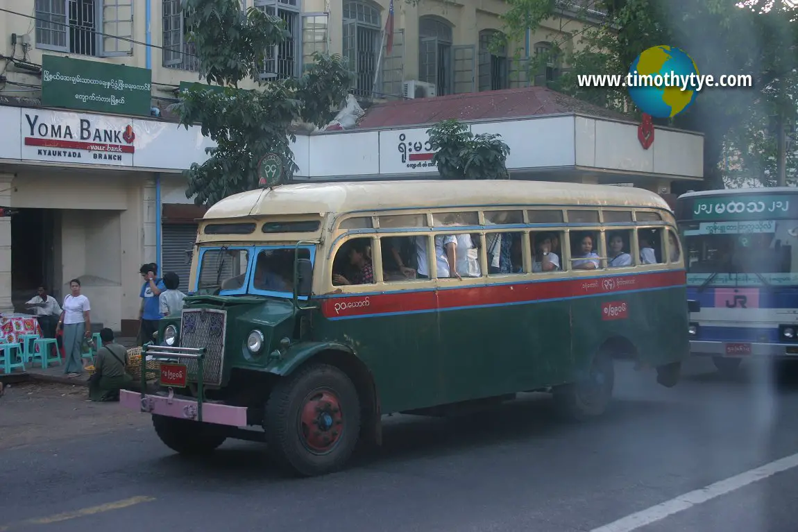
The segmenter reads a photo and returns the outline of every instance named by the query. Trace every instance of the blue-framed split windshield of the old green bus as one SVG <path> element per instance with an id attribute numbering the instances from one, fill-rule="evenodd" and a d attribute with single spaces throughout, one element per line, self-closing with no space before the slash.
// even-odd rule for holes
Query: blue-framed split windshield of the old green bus
<path id="1" fill-rule="evenodd" d="M 295 252 L 294 246 L 200 248 L 197 294 L 262 294 L 290 298 L 294 293 Z M 311 258 L 307 248 L 300 248 L 298 253 L 299 258 Z M 255 260 L 251 260 L 252 257 Z"/>

